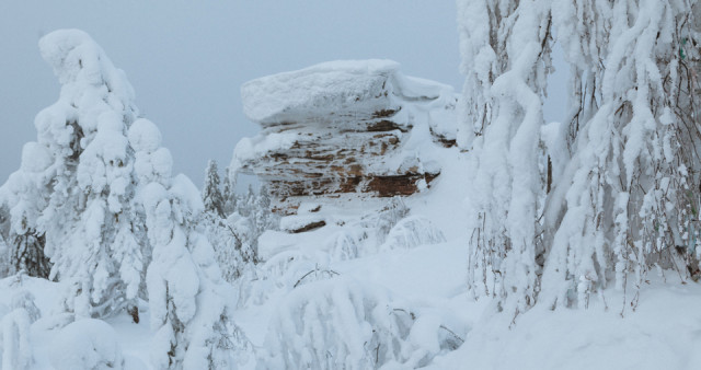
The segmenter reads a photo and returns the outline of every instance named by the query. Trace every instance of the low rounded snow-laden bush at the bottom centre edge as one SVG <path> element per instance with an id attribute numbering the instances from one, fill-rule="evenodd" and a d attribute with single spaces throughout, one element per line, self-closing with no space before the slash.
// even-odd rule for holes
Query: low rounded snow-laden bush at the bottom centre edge
<path id="1" fill-rule="evenodd" d="M 422 317 L 381 288 L 337 277 L 299 287 L 284 300 L 258 368 L 416 368 L 461 340 L 438 316 Z"/>

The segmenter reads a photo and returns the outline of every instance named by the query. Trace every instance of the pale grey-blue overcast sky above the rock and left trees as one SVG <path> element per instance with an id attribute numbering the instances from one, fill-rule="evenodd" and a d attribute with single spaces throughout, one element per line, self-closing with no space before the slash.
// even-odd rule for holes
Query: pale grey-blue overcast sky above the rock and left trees
<path id="1" fill-rule="evenodd" d="M 59 85 L 38 38 L 80 28 L 135 88 L 175 171 L 202 185 L 258 128 L 242 113 L 251 79 L 337 59 L 388 58 L 410 76 L 462 85 L 453 0 L 2 0 L 0 183 L 19 169 L 34 116 Z"/>

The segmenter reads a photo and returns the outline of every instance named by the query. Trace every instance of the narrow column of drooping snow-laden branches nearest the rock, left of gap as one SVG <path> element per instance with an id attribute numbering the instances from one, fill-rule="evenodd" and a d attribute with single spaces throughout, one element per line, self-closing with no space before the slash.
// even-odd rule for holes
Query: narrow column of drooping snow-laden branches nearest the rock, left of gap
<path id="1" fill-rule="evenodd" d="M 469 286 L 518 314 L 542 268 L 538 212 L 550 1 L 458 1 L 467 76 L 459 144 L 472 151 Z"/>

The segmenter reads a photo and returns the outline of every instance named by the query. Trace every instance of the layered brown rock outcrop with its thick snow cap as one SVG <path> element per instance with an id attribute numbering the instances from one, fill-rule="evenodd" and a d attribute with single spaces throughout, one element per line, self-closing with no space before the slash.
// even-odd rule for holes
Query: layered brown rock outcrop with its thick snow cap
<path id="1" fill-rule="evenodd" d="M 237 144 L 232 170 L 257 175 L 279 198 L 411 195 L 440 173 L 430 148 L 455 143 L 452 88 L 403 76 L 390 60 L 325 62 L 250 81 L 241 93 L 263 131 Z"/>

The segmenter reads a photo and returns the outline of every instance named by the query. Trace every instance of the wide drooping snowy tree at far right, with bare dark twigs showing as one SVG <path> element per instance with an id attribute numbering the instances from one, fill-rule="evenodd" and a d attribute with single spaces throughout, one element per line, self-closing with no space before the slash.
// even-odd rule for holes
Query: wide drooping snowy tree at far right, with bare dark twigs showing
<path id="1" fill-rule="evenodd" d="M 690 1 L 554 3 L 576 138 L 547 213 L 543 293 L 586 307 L 611 276 L 635 303 L 650 267 L 698 270 L 698 20 Z"/>

